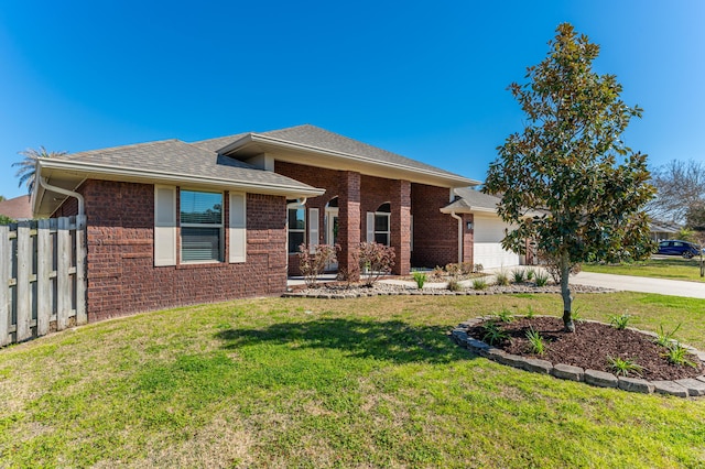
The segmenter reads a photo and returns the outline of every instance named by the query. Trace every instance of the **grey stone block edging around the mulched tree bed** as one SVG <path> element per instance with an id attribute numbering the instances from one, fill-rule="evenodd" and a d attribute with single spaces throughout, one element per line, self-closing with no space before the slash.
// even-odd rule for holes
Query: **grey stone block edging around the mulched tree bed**
<path id="1" fill-rule="evenodd" d="M 605 371 L 585 370 L 579 367 L 563 363 L 554 366 L 547 360 L 525 358 L 508 353 L 468 335 L 468 330 L 470 328 L 491 318 L 492 317 L 478 317 L 475 319 L 468 319 L 465 323 L 458 324 L 458 326 L 449 332 L 449 336 L 455 343 L 479 355 L 480 357 L 521 370 L 540 374 L 550 374 L 561 380 L 579 381 L 594 386 L 615 388 L 622 391 L 643 394 L 660 393 L 675 395 L 679 397 L 699 397 L 705 395 L 705 375 L 684 378 L 675 381 L 648 381 L 640 378 L 616 377 Z M 599 321 L 593 320 L 590 323 Z M 633 327 L 629 329 L 647 336 L 655 336 L 653 332 L 639 330 Z M 693 347 L 684 347 L 690 352 L 694 353 L 698 360 L 705 363 L 705 352 L 698 351 Z"/>

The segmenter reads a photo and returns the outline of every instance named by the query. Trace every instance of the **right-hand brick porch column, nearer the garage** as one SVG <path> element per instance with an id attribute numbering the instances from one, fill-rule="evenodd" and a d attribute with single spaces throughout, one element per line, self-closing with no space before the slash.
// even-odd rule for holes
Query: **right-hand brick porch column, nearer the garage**
<path id="1" fill-rule="evenodd" d="M 391 246 L 394 248 L 397 275 L 405 275 L 411 270 L 411 183 L 394 181 L 391 199 Z"/>

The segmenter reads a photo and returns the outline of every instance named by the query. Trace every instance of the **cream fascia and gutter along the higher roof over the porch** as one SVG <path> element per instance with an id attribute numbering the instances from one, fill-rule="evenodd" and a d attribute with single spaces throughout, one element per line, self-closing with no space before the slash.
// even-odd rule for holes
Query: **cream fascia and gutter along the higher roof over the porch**
<path id="1" fill-rule="evenodd" d="M 371 164 L 375 166 L 382 166 L 382 167 L 392 167 L 392 168 L 397 168 L 397 170 L 403 170 L 403 171 L 408 171 L 408 172 L 412 172 L 412 173 L 417 173 L 417 174 L 423 174 L 426 176 L 433 176 L 433 177 L 438 177 L 438 178 L 443 178 L 446 181 L 452 181 L 454 182 L 454 184 L 458 184 L 457 187 L 466 187 L 466 186 L 477 186 L 478 184 L 480 184 L 479 181 L 475 181 L 475 179 L 469 179 L 467 177 L 464 176 L 457 176 L 454 174 L 448 174 L 448 173 L 441 173 L 437 171 L 432 171 L 432 170 L 422 170 L 422 168 L 417 168 L 417 167 L 413 167 L 413 166 L 408 166 L 405 164 L 399 164 L 399 163 L 392 163 L 392 162 L 380 162 L 379 160 L 375 160 L 368 156 L 361 156 L 361 155 L 356 155 L 356 154 L 350 154 L 350 153 L 345 153 L 345 152 L 338 152 L 335 150 L 326 150 L 319 146 L 315 146 L 315 145 L 307 145 L 307 144 L 303 144 L 303 143 L 295 143 L 295 142 L 290 142 L 288 140 L 281 140 L 281 139 L 276 139 L 273 137 L 268 137 L 268 135 L 261 135 L 261 134 L 257 134 L 257 133 L 249 133 L 245 137 L 242 137 L 239 140 L 236 140 L 235 142 L 228 144 L 227 146 L 224 146 L 223 149 L 218 150 L 219 154 L 224 154 L 227 155 L 230 152 L 236 151 L 237 149 L 245 146 L 247 144 L 250 143 L 262 143 L 262 144 L 271 144 L 271 145 L 275 145 L 282 149 L 286 149 L 286 150 L 299 150 L 299 151 L 306 151 L 306 152 L 312 152 L 312 153 L 319 153 L 319 154 L 324 154 L 324 155 L 328 155 L 328 156 L 333 156 L 333 157 L 338 157 L 341 160 L 348 160 L 351 162 L 362 162 L 362 163 L 367 163 L 367 164 Z"/>

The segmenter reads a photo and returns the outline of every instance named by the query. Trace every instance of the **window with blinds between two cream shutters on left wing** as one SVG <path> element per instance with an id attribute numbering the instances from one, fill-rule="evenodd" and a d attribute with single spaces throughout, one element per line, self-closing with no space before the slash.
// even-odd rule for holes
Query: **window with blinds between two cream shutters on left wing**
<path id="1" fill-rule="evenodd" d="M 182 262 L 223 261 L 223 194 L 181 192 Z"/>

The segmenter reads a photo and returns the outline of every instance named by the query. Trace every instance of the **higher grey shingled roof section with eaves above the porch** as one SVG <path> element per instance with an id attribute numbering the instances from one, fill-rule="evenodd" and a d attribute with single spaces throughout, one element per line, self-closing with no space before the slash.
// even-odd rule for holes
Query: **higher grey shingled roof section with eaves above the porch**
<path id="1" fill-rule="evenodd" d="M 478 181 L 310 124 L 239 133 L 193 144 L 241 160 L 264 153 L 276 161 L 447 187 L 479 184 Z"/>

